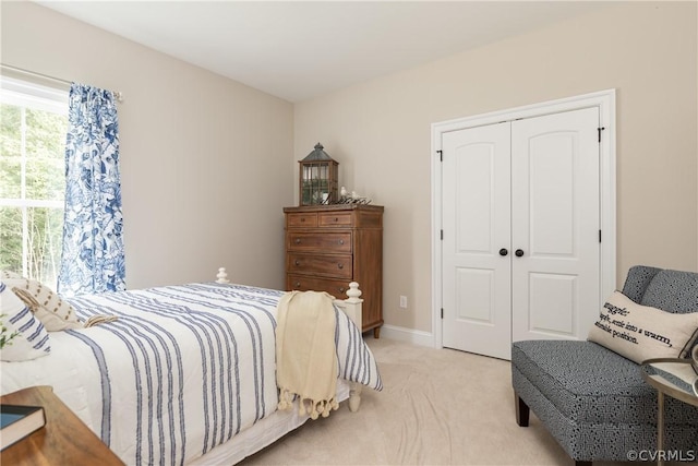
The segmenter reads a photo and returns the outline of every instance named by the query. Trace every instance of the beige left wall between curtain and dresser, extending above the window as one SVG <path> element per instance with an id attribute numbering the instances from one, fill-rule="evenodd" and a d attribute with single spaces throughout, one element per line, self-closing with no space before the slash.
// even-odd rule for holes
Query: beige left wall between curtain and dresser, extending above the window
<path id="1" fill-rule="evenodd" d="M 2 2 L 1 61 L 120 91 L 130 288 L 284 286 L 292 105 L 28 2 Z"/>

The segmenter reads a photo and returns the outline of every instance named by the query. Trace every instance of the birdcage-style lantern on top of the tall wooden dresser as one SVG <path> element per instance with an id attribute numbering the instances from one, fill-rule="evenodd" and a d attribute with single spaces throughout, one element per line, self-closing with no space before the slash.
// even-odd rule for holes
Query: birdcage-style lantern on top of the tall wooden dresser
<path id="1" fill-rule="evenodd" d="M 298 162 L 300 205 L 334 204 L 339 199 L 339 164 L 323 148 L 321 143 L 315 144 L 315 150 Z"/>

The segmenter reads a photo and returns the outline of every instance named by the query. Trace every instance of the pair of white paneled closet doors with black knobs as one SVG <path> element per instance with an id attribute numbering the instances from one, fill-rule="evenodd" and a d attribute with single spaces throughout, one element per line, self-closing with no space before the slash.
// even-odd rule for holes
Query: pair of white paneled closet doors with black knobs
<path id="1" fill-rule="evenodd" d="M 599 313 L 599 109 L 442 135 L 443 345 L 585 339 Z"/>

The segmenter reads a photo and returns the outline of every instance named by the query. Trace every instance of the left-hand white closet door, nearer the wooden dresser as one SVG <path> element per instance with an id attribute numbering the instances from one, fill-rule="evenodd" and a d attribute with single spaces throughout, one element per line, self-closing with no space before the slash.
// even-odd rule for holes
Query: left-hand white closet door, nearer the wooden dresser
<path id="1" fill-rule="evenodd" d="M 443 345 L 509 359 L 510 124 L 446 133 L 442 153 Z"/>

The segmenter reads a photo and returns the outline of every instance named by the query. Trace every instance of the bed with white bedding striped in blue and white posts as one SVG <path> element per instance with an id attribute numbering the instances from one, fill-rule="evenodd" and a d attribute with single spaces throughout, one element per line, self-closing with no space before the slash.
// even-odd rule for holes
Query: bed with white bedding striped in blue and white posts
<path id="1" fill-rule="evenodd" d="M 217 282 L 67 300 L 82 322 L 108 319 L 49 332 L 47 356 L 0 362 L 1 394 L 51 385 L 129 465 L 238 463 L 308 415 L 277 409 L 276 308 L 284 292 L 226 282 L 219 274 Z M 362 386 L 382 389 L 359 331 L 360 294 L 351 284 L 334 309 L 337 401 L 349 399 L 351 410 Z"/>

